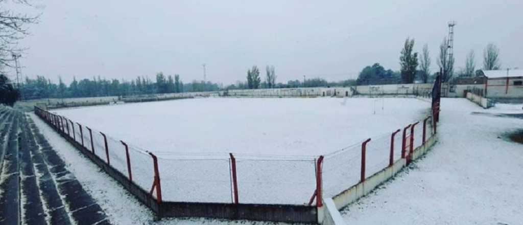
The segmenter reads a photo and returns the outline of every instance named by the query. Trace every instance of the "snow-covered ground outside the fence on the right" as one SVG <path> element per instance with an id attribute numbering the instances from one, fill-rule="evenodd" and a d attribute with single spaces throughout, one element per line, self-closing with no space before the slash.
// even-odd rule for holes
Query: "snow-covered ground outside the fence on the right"
<path id="1" fill-rule="evenodd" d="M 506 133 L 523 119 L 472 115 L 467 99 L 442 99 L 439 140 L 425 158 L 345 208 L 347 224 L 521 224 L 523 145 Z"/>

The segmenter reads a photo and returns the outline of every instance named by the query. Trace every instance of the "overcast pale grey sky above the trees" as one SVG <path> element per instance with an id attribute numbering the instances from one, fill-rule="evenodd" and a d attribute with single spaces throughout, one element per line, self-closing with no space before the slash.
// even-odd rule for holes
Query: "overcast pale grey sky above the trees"
<path id="1" fill-rule="evenodd" d="M 184 82 L 244 81 L 258 65 L 276 67 L 277 82 L 355 78 L 379 62 L 399 70 L 402 44 L 427 43 L 437 70 L 438 46 L 456 20 L 456 67 L 473 49 L 501 49 L 502 67 L 523 67 L 523 1 L 41 1 L 40 23 L 20 42 L 29 77 L 67 83 L 100 75 L 130 80 L 156 72 Z"/>

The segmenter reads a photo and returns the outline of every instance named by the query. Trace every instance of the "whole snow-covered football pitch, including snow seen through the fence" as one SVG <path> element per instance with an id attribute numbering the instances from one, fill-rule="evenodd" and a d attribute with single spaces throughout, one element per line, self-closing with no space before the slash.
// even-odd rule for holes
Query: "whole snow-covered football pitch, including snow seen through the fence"
<path id="1" fill-rule="evenodd" d="M 241 203 L 301 205 L 314 192 L 319 155 L 326 155 L 324 195 L 335 195 L 358 182 L 361 141 L 372 138 L 370 175 L 388 165 L 390 134 L 429 108 L 416 98 L 195 98 L 54 112 L 107 134 L 111 165 L 123 174 L 119 140 L 157 155 L 164 200 L 230 203 L 233 153 Z M 401 135 L 395 146 L 399 159 Z M 144 189 L 151 187 L 150 163 L 131 154 L 133 179 Z"/>

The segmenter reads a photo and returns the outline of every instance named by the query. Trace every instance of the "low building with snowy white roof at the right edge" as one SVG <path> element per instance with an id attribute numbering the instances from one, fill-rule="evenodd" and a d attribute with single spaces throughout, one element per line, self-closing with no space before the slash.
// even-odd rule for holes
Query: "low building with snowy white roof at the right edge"
<path id="1" fill-rule="evenodd" d="M 480 70 L 487 98 L 523 98 L 523 70 Z"/>

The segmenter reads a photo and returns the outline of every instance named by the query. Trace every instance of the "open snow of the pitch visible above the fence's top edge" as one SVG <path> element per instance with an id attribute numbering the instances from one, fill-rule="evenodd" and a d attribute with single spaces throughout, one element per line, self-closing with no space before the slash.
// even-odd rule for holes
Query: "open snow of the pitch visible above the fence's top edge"
<path id="1" fill-rule="evenodd" d="M 428 107 L 415 98 L 197 98 L 55 111 L 155 153 L 320 155 Z"/>

